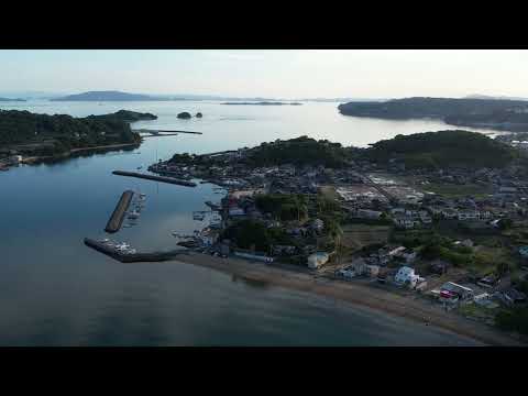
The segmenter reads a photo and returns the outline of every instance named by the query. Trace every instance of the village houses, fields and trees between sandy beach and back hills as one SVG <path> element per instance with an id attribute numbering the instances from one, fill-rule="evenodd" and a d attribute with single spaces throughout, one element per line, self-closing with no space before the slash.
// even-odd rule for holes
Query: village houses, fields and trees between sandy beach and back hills
<path id="1" fill-rule="evenodd" d="M 228 190 L 207 202 L 216 221 L 179 244 L 383 287 L 487 324 L 525 307 L 528 184 L 519 169 L 248 166 L 255 150 L 177 154 L 148 168 Z"/>

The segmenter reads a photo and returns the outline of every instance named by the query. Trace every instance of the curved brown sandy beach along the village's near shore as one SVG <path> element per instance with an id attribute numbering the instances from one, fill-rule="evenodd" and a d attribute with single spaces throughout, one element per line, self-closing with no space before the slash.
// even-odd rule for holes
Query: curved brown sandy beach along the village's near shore
<path id="1" fill-rule="evenodd" d="M 494 330 L 483 323 L 470 321 L 426 301 L 399 296 L 391 290 L 345 280 L 317 278 L 307 272 L 296 272 L 274 265 L 250 262 L 242 258 L 220 258 L 189 252 L 170 262 L 199 265 L 250 280 L 273 286 L 311 293 L 321 297 L 339 299 L 363 309 L 427 323 L 441 330 L 469 338 L 486 345 L 521 346 L 526 343 Z"/>

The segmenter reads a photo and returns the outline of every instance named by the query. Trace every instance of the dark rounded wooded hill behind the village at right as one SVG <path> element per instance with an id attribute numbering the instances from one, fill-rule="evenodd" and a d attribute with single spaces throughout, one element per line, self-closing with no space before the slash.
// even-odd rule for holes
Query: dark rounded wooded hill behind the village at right
<path id="1" fill-rule="evenodd" d="M 364 155 L 381 163 L 402 161 L 406 168 L 497 168 L 515 158 L 508 145 L 460 130 L 397 135 L 374 143 Z"/>

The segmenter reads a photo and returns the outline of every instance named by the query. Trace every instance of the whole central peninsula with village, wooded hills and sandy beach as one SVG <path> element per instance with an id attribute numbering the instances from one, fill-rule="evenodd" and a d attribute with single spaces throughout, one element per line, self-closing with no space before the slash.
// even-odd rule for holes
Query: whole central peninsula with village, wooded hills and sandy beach
<path id="1" fill-rule="evenodd" d="M 205 202 L 217 220 L 175 235 L 179 262 L 513 345 L 528 340 L 527 157 L 452 130 L 367 148 L 299 136 L 148 169 L 227 190 Z"/>

